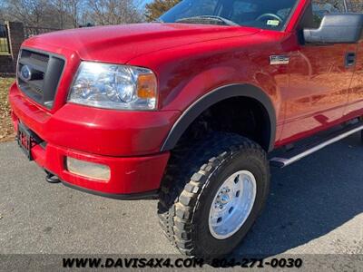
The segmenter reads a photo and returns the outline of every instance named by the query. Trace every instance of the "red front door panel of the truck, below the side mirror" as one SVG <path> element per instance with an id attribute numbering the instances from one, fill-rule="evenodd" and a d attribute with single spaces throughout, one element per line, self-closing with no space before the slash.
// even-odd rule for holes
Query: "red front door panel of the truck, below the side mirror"
<path id="1" fill-rule="evenodd" d="M 281 141 L 298 140 L 342 120 L 354 73 L 346 55 L 356 51 L 357 44 L 335 44 L 300 46 L 291 53 Z"/>

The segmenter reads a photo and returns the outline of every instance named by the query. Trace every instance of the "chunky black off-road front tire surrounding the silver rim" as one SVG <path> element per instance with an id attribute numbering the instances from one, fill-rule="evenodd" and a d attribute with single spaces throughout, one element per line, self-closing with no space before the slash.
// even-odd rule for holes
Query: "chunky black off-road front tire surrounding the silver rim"
<path id="1" fill-rule="evenodd" d="M 238 170 L 254 175 L 256 199 L 242 227 L 231 238 L 217 239 L 208 224 L 211 202 L 222 182 Z M 160 224 L 184 255 L 226 256 L 258 218 L 269 187 L 269 161 L 260 145 L 240 135 L 214 132 L 186 150 L 172 152 L 158 203 Z"/>

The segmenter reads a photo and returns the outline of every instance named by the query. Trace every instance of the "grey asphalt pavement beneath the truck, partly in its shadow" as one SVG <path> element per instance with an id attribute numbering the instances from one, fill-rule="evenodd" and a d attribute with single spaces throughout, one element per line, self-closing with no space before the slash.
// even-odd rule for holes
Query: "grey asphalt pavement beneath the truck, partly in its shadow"
<path id="1" fill-rule="evenodd" d="M 178 254 L 156 201 L 121 201 L 49 184 L 15 142 L 0 144 L 0 254 Z M 358 134 L 283 170 L 235 254 L 363 254 Z"/>

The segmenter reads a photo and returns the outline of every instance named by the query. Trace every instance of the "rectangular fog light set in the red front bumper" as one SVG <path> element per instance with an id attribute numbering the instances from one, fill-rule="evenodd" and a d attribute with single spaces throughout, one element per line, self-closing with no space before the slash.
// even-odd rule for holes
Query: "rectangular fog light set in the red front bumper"
<path id="1" fill-rule="evenodd" d="M 93 180 L 110 180 L 111 170 L 107 165 L 66 158 L 67 170 L 71 173 Z"/>

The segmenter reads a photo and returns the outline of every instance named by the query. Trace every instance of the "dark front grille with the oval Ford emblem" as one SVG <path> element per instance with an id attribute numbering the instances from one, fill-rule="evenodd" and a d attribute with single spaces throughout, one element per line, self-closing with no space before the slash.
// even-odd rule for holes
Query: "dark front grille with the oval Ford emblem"
<path id="1" fill-rule="evenodd" d="M 51 109 L 63 70 L 61 57 L 23 49 L 17 65 L 17 82 L 28 97 Z"/>

